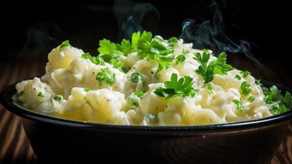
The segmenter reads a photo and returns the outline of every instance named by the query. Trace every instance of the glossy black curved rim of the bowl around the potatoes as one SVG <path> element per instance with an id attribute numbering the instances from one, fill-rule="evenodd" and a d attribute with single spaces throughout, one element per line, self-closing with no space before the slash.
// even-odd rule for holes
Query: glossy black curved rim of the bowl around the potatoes
<path id="1" fill-rule="evenodd" d="M 33 78 L 28 78 L 25 80 L 31 80 Z M 25 81 L 21 80 L 21 81 Z M 21 82 L 18 81 L 18 82 Z M 91 127 L 91 128 L 101 128 L 101 129 L 116 129 L 116 130 L 147 130 L 147 131 L 230 131 L 235 129 L 251 129 L 264 127 L 272 124 L 283 123 L 292 120 L 292 109 L 288 112 L 274 115 L 270 117 L 266 117 L 263 119 L 257 119 L 252 121 L 238 122 L 238 123 L 223 123 L 223 124 L 210 124 L 210 125 L 196 125 L 196 126 L 141 126 L 141 125 L 112 125 L 112 124 L 102 124 L 102 123 L 90 123 L 90 122 L 82 122 L 82 121 L 74 121 L 67 120 L 58 117 L 48 116 L 45 114 L 40 114 L 29 109 L 21 108 L 15 104 L 12 100 L 12 96 L 17 92 L 16 84 L 10 84 L 5 87 L 0 93 L 0 102 L 4 108 L 6 108 L 11 113 L 18 115 L 20 118 L 24 118 L 27 120 L 39 122 L 39 123 L 53 123 L 57 125 L 65 125 L 65 126 L 75 126 L 75 127 Z M 268 82 L 262 80 L 264 86 L 270 87 L 272 85 L 277 86 L 279 90 L 286 92 L 289 91 L 292 93 L 292 90 L 286 86 Z"/>

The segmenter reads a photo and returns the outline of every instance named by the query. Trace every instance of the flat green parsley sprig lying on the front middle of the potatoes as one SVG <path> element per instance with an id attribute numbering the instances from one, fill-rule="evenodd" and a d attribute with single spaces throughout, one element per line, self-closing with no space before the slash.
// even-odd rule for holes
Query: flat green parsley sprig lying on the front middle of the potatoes
<path id="1" fill-rule="evenodd" d="M 172 74 L 171 80 L 164 82 L 165 88 L 159 87 L 156 88 L 154 93 L 159 97 L 173 98 L 177 96 L 185 97 L 194 97 L 195 93 L 198 91 L 192 87 L 193 78 L 189 76 L 184 76 L 183 78 L 179 79 L 178 75 Z"/>

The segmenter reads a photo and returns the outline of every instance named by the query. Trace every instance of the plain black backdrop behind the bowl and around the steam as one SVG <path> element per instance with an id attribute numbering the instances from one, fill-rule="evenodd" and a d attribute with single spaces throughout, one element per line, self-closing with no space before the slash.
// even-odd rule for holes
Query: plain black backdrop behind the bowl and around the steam
<path id="1" fill-rule="evenodd" d="M 213 17 L 208 8 L 209 0 L 139 2 L 150 2 L 157 8 L 160 21 L 148 13 L 142 25 L 145 30 L 165 39 L 180 36 L 185 18 L 197 19 L 201 23 L 212 21 Z M 113 1 L 8 3 L 10 5 L 2 5 L 8 12 L 1 10 L 4 52 L 0 60 L 46 60 L 47 54 L 64 40 L 70 40 L 73 46 L 84 52 L 97 55 L 99 40 L 116 41 L 118 38 L 118 23 L 112 12 Z M 290 56 L 288 23 L 291 18 L 288 17 L 289 5 L 285 3 L 225 0 L 220 1 L 219 6 L 225 6 L 222 15 L 227 36 L 236 43 L 239 40 L 249 41 L 256 59 L 268 69 L 259 69 L 240 54 L 237 60 L 230 63 L 238 69 L 251 71 L 256 78 L 292 87 L 292 74 L 288 67 L 291 62 L 287 60 Z"/>

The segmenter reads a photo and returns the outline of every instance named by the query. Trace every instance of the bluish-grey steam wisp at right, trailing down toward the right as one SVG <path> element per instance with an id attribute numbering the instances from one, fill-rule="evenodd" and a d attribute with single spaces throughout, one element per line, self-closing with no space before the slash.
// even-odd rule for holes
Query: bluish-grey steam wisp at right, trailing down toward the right
<path id="1" fill-rule="evenodd" d="M 250 45 L 247 41 L 239 41 L 237 45 L 222 31 L 224 25 L 222 14 L 215 0 L 211 0 L 210 10 L 214 13 L 213 26 L 210 21 L 196 24 L 196 20 L 187 19 L 183 22 L 180 39 L 183 39 L 184 42 L 192 42 L 193 47 L 197 49 L 211 49 L 216 55 L 222 51 L 243 53 L 248 59 L 259 65 L 260 63 L 251 53 Z"/>

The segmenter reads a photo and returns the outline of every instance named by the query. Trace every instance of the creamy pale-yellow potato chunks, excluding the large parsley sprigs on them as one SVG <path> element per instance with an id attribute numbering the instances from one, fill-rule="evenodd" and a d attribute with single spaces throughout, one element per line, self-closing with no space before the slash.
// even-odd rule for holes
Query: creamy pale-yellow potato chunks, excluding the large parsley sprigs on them
<path id="1" fill-rule="evenodd" d="M 123 68 L 128 68 L 121 71 L 113 64 L 85 59 L 80 49 L 58 46 L 48 55 L 44 76 L 17 84 L 18 100 L 24 108 L 45 115 L 121 125 L 208 125 L 272 116 L 254 77 L 233 69 L 215 74 L 213 80 L 204 83 L 196 72 L 201 64 L 194 58 L 196 53 L 202 56 L 210 51 L 193 49 L 191 43 L 183 43 L 182 39 L 162 42 L 173 50 L 175 58 L 183 55 L 185 60 L 172 60 L 159 68 L 158 59 L 147 59 L 132 51 L 116 58 L 124 64 Z M 211 55 L 208 64 L 216 60 Z M 165 88 L 164 82 L 171 81 L 173 74 L 179 79 L 192 78 L 195 95 L 157 95 L 156 89 Z M 114 82 L 105 75 L 114 78 Z M 250 85 L 248 95 L 240 88 L 243 82 Z M 249 97 L 254 100 L 249 101 Z M 242 104 L 240 110 L 236 102 Z"/>

